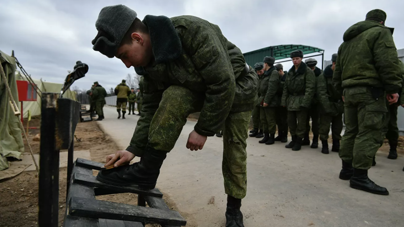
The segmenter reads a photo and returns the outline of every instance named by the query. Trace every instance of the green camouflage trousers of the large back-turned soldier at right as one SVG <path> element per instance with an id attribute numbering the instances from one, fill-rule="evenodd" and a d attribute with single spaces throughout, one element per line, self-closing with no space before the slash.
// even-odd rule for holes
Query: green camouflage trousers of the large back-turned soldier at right
<path id="1" fill-rule="evenodd" d="M 386 95 L 377 100 L 368 87 L 344 89 L 345 133 L 340 158 L 354 168 L 369 169 L 383 143 L 382 129 L 386 119 Z"/>

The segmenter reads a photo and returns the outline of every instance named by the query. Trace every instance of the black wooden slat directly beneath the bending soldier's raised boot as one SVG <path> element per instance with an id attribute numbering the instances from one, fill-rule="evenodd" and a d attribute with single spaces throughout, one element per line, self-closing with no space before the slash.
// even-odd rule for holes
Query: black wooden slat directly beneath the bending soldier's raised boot
<path id="1" fill-rule="evenodd" d="M 135 185 L 131 185 L 131 186 L 108 185 L 103 182 L 97 181 L 96 177 L 94 177 L 94 176 L 87 176 L 87 175 L 82 175 L 82 174 L 74 174 L 73 183 L 81 184 L 81 185 L 85 185 L 85 186 L 105 188 L 108 190 L 118 191 L 120 193 L 129 192 L 129 193 L 136 193 L 136 194 L 142 194 L 142 195 L 148 195 L 148 196 L 155 196 L 155 197 L 160 197 L 160 198 L 163 197 L 163 194 L 157 188 L 154 188 L 151 190 L 140 190 L 139 187 L 135 186 Z"/>

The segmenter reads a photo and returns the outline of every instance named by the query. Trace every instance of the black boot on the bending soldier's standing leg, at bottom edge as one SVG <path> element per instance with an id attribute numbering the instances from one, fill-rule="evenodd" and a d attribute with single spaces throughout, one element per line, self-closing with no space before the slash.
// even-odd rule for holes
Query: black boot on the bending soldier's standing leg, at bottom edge
<path id="1" fill-rule="evenodd" d="M 243 214 L 240 210 L 241 199 L 227 196 L 226 227 L 244 227 Z"/>

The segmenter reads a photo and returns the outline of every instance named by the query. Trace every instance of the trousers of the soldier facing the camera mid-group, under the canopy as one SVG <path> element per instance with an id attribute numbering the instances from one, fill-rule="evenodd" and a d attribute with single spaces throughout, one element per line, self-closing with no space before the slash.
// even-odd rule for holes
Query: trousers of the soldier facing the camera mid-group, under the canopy
<path id="1" fill-rule="evenodd" d="M 288 125 L 290 135 L 304 138 L 306 133 L 306 121 L 309 110 L 288 111 Z"/>

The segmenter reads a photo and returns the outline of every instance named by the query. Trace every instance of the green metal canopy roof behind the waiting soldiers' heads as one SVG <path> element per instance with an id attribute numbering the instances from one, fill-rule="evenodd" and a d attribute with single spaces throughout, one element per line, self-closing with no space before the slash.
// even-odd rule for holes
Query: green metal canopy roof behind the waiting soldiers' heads
<path id="1" fill-rule="evenodd" d="M 317 47 L 298 44 L 287 44 L 265 47 L 259 50 L 244 53 L 243 55 L 247 64 L 254 66 L 256 62 L 262 62 L 265 56 L 272 56 L 275 58 L 275 60 L 290 58 L 290 52 L 294 50 L 303 51 L 303 55 L 312 53 L 319 53 L 319 55 L 324 54 L 324 50 Z"/>

